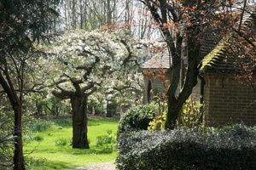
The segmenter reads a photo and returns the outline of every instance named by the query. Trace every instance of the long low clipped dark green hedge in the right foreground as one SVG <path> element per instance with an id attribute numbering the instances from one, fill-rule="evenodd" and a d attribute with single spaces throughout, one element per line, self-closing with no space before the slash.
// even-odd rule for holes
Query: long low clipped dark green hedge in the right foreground
<path id="1" fill-rule="evenodd" d="M 256 169 L 256 129 L 236 125 L 195 133 L 183 128 L 122 133 L 118 169 Z"/>

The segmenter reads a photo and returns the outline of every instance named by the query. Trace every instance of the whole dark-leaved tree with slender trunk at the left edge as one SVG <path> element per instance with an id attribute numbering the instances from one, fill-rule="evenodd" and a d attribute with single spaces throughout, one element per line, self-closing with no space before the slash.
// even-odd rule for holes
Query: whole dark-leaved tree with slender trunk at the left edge
<path id="1" fill-rule="evenodd" d="M 33 43 L 45 39 L 58 13 L 59 0 L 4 0 L 0 2 L 0 84 L 15 113 L 14 169 L 25 169 L 22 151 L 22 103 L 26 60 Z"/>

